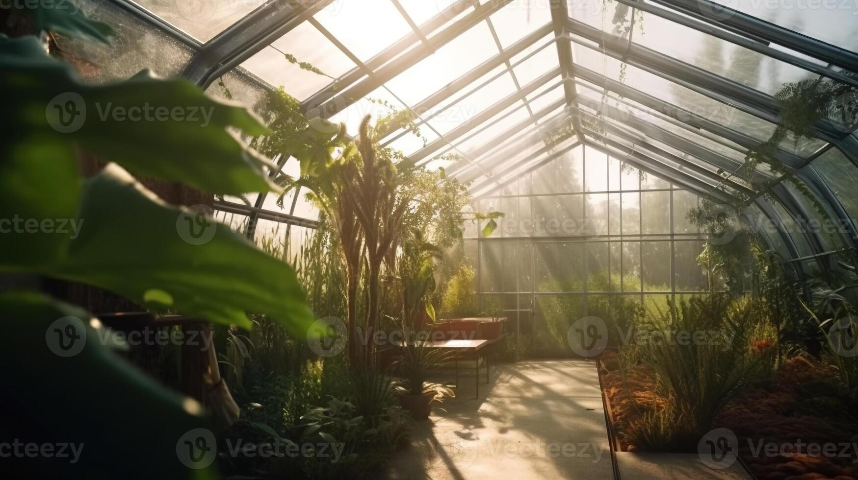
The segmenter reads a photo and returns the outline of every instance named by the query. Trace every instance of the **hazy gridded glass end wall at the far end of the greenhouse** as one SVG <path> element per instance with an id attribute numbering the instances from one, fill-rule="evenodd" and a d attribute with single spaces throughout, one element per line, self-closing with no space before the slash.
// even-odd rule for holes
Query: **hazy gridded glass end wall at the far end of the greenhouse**
<path id="1" fill-rule="evenodd" d="M 704 237 L 687 219 L 697 206 L 662 178 L 575 147 L 474 201 L 505 213 L 490 237 L 479 237 L 483 225 L 466 229 L 480 309 L 508 317 L 535 355 L 553 355 L 584 315 L 621 325 L 629 309 L 704 291 Z"/>

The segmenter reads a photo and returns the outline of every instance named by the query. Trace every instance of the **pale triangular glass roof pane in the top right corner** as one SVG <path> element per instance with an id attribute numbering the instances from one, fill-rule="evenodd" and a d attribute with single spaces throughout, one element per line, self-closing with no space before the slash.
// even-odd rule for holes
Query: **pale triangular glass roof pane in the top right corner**
<path id="1" fill-rule="evenodd" d="M 781 2 L 778 8 L 757 0 L 713 0 L 747 15 L 770 21 L 809 37 L 851 51 L 858 51 L 855 35 L 855 2 Z"/>

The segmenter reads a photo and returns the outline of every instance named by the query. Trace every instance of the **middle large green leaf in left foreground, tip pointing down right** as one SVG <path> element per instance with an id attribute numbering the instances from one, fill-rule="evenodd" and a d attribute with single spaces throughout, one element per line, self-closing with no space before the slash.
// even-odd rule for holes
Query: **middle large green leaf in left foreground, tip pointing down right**
<path id="1" fill-rule="evenodd" d="M 0 269 L 96 285 L 153 309 L 240 327 L 251 327 L 247 311 L 262 313 L 305 333 L 312 313 L 292 268 L 227 225 L 200 219 L 166 205 L 111 164 L 83 185 L 75 238 L 12 234 L 55 237 L 57 261 L 9 267 L 4 258 Z M 14 259 L 15 252 L 6 255 Z"/>

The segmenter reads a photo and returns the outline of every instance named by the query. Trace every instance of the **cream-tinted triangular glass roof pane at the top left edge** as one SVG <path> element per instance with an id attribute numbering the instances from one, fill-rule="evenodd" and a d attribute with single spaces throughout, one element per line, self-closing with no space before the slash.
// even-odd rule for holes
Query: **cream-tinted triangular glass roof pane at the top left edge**
<path id="1" fill-rule="evenodd" d="M 265 2 L 266 0 L 136 0 L 135 3 L 191 37 L 207 42 Z"/>

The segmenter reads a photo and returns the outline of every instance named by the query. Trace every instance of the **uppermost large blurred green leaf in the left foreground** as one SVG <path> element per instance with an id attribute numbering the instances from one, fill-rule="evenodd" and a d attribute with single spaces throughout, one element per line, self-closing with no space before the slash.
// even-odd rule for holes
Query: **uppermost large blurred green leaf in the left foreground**
<path id="1" fill-rule="evenodd" d="M 0 147 L 4 155 L 57 142 L 215 194 L 277 189 L 265 170 L 275 165 L 228 130 L 268 129 L 244 106 L 212 99 L 189 81 L 143 70 L 128 81 L 88 85 L 33 37 L 0 38 L 0 67 L 3 128 L 15 131 Z"/>

